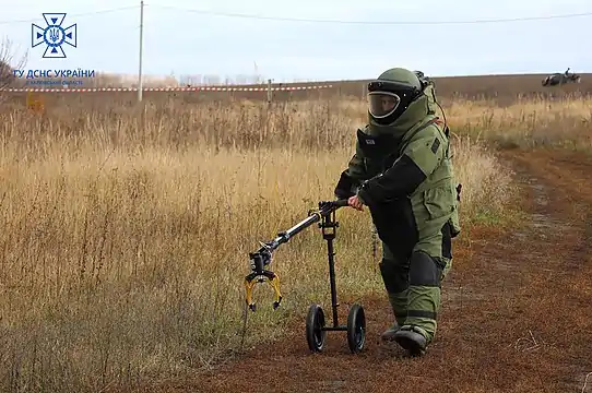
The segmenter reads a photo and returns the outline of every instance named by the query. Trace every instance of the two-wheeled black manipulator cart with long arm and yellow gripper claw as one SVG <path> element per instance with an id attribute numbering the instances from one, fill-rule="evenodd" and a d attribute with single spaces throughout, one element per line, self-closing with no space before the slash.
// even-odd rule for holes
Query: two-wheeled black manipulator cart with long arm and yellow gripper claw
<path id="1" fill-rule="evenodd" d="M 343 206 L 347 206 L 347 200 L 321 201 L 319 202 L 319 210 L 309 212 L 308 218 L 301 221 L 292 228 L 280 233 L 275 239 L 265 243 L 261 242 L 261 248 L 259 250 L 249 253 L 252 272 L 245 277 L 247 305 L 252 311 L 256 310 L 256 305 L 252 301 L 252 288 L 257 283 L 268 281 L 275 291 L 273 309 L 276 309 L 282 301 L 280 278 L 275 273 L 267 270 L 267 266 L 271 264 L 272 253 L 292 237 L 320 221 L 319 228 L 322 230 L 323 239 L 327 240 L 333 323 L 332 325 L 327 325 L 324 311 L 320 305 L 315 303 L 310 306 L 306 317 L 306 341 L 310 350 L 315 353 L 323 350 L 327 341 L 327 332 L 330 331 L 347 332 L 347 345 L 353 354 L 363 350 L 366 342 L 366 315 L 364 313 L 364 308 L 360 305 L 354 303 L 350 308 L 346 325 L 340 325 L 338 319 L 339 303 L 335 287 L 335 252 L 333 250 L 333 240 L 335 239 L 336 228 L 339 227 L 339 223 L 335 219 L 335 212 Z"/>

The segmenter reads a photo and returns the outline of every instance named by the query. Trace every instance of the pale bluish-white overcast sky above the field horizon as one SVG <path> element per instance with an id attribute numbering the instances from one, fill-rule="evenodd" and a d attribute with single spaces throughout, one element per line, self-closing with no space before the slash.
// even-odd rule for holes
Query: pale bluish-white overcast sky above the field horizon
<path id="1" fill-rule="evenodd" d="M 15 58 L 27 52 L 25 70 L 138 73 L 139 0 L 0 0 L 0 38 L 11 40 Z M 104 12 L 121 8 L 128 9 Z M 44 12 L 67 13 L 63 27 L 76 23 L 78 45 L 62 46 L 66 59 L 45 59 L 45 45 L 31 47 L 32 23 L 45 26 Z M 431 76 L 550 73 L 568 67 L 584 73 L 592 72 L 587 49 L 592 15 L 449 22 L 585 12 L 592 13 L 590 0 L 145 0 L 142 67 L 152 75 L 257 73 L 274 82 L 371 79 L 392 67 Z"/>

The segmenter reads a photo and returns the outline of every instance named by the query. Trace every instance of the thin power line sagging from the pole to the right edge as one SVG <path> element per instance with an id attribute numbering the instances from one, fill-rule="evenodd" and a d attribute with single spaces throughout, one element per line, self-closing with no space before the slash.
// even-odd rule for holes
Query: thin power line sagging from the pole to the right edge
<path id="1" fill-rule="evenodd" d="M 580 16 L 592 16 L 592 12 L 563 14 L 563 15 L 547 15 L 547 16 L 526 16 L 526 17 L 512 17 L 512 19 L 495 19 L 495 20 L 465 20 L 465 21 L 343 21 L 343 20 L 311 20 L 311 19 L 296 19 L 296 17 L 282 17 L 282 16 L 264 16 L 256 14 L 241 14 L 241 13 L 228 13 L 216 12 L 208 10 L 193 10 L 173 5 L 152 4 L 153 7 L 161 9 L 168 9 L 175 11 L 192 12 L 204 15 L 213 16 L 226 16 L 226 17 L 242 17 L 252 20 L 267 20 L 267 21 L 283 21 L 283 22 L 306 22 L 306 23 L 335 23 L 335 24 L 364 24 L 364 25 L 450 25 L 450 24 L 485 24 L 485 23 L 509 23 L 509 22 L 528 22 L 528 21 L 544 21 L 554 19 L 570 19 Z"/>

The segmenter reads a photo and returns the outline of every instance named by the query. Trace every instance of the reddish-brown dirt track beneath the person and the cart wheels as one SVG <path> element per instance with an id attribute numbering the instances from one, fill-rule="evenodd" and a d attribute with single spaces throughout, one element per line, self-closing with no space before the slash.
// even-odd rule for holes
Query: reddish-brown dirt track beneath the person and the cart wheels
<path id="1" fill-rule="evenodd" d="M 384 297 L 365 299 L 367 349 L 329 333 L 322 355 L 304 321 L 270 348 L 166 392 L 581 392 L 592 372 L 592 160 L 505 153 L 523 186 L 524 228 L 483 230 L 458 249 L 443 285 L 436 342 L 419 359 L 379 343 Z M 341 318 L 350 306 L 342 302 Z M 323 307 L 329 308 L 329 305 Z M 585 392 L 592 392 L 592 376 Z"/>

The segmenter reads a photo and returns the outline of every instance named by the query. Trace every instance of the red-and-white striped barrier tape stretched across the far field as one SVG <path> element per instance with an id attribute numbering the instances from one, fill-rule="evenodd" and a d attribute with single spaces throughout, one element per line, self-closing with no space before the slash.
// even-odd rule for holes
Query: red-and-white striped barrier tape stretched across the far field
<path id="1" fill-rule="evenodd" d="M 333 85 L 315 86 L 280 86 L 271 87 L 272 92 L 306 91 L 331 88 Z M 146 87 L 142 92 L 267 92 L 268 87 L 236 87 L 236 86 L 196 86 L 196 87 Z M 138 87 L 96 87 L 96 88 L 7 88 L 12 93 L 94 93 L 94 92 L 138 92 Z"/>

